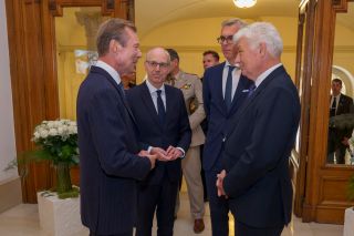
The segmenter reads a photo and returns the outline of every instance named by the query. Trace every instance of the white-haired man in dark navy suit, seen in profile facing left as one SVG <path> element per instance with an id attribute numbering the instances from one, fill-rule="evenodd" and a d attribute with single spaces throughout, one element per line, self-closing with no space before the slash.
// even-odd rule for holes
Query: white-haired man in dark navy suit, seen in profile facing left
<path id="1" fill-rule="evenodd" d="M 280 61 L 282 39 L 272 24 L 252 23 L 233 40 L 236 61 L 254 88 L 228 122 L 218 194 L 228 197 L 236 236 L 280 236 L 292 213 L 289 157 L 299 94 Z"/>

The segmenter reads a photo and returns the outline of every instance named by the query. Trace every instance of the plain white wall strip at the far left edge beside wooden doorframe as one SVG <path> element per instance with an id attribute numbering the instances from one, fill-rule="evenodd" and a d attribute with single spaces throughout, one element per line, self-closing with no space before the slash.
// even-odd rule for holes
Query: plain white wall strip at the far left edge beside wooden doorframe
<path id="1" fill-rule="evenodd" d="M 4 0 L 0 0 L 0 183 L 18 176 L 17 170 L 4 172 L 15 158 L 13 107 L 10 79 L 9 44 Z"/>

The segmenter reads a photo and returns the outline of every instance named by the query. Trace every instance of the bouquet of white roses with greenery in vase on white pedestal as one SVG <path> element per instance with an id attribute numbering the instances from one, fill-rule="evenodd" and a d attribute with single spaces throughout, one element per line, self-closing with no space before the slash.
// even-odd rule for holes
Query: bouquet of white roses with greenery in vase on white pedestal
<path id="1" fill-rule="evenodd" d="M 34 127 L 32 141 L 39 148 L 22 153 L 19 157 L 20 164 L 50 161 L 56 171 L 56 185 L 53 191 L 58 193 L 58 197 L 77 197 L 79 188 L 72 186 L 70 177 L 70 167 L 79 164 L 76 122 L 43 121 Z M 9 167 L 13 163 L 10 163 Z M 43 194 L 50 194 L 50 192 L 46 191 Z"/>

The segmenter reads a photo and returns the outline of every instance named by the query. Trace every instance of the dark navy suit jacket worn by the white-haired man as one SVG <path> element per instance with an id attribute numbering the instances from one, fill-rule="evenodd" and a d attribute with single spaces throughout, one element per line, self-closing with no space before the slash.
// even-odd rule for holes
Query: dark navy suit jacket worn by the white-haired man
<path id="1" fill-rule="evenodd" d="M 278 227 L 290 222 L 289 157 L 299 120 L 296 89 L 280 66 L 228 123 L 223 188 L 239 222 L 253 227 Z"/>

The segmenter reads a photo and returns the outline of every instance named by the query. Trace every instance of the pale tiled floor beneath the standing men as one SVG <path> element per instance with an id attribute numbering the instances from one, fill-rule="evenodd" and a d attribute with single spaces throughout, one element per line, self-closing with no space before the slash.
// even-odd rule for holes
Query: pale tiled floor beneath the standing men
<path id="1" fill-rule="evenodd" d="M 180 209 L 178 218 L 175 222 L 176 236 L 192 236 L 192 220 L 189 216 L 189 203 L 186 193 L 180 197 Z M 208 205 L 206 205 L 206 229 L 200 236 L 211 235 L 210 214 Z M 230 225 L 233 222 L 230 220 Z M 156 226 L 153 232 L 156 235 Z M 2 214 L 0 214 L 0 235 L 1 236 L 45 236 L 39 225 L 38 206 L 35 204 L 21 204 Z M 83 230 L 77 236 L 87 235 L 87 230 Z M 230 235 L 233 235 L 230 233 Z M 315 223 L 302 223 L 299 218 L 293 218 L 288 228 L 284 229 L 283 236 L 342 236 L 342 225 L 327 225 Z"/>

